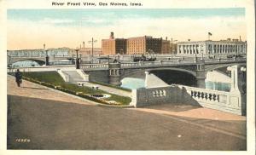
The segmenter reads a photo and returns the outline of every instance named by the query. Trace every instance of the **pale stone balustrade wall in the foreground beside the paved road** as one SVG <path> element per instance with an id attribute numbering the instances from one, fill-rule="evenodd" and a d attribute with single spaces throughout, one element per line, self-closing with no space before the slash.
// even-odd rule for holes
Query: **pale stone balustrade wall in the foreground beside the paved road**
<path id="1" fill-rule="evenodd" d="M 183 85 L 168 87 L 132 89 L 133 106 L 155 104 L 189 104 L 203 106 L 238 115 L 245 113 L 245 95 L 212 89 L 200 89 Z"/>

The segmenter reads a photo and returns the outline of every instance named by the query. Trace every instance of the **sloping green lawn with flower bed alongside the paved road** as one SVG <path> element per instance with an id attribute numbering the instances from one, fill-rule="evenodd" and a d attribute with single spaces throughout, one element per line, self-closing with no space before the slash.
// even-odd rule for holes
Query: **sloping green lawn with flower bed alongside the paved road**
<path id="1" fill-rule="evenodd" d="M 109 94 L 108 92 L 99 90 L 99 89 L 91 89 L 90 87 L 79 87 L 77 84 L 73 83 L 65 83 L 64 80 L 57 72 L 22 72 L 23 77 L 28 78 L 28 80 L 35 82 L 44 82 L 44 85 L 51 86 L 61 86 L 61 91 L 66 91 L 71 94 L 75 94 L 75 92 L 82 92 L 83 94 L 108 94 L 111 95 L 109 98 L 105 98 L 104 100 L 114 100 L 116 102 L 121 103 L 121 105 L 129 105 L 131 102 L 131 98 Z M 46 84 L 47 83 L 47 84 Z M 48 85 L 47 85 L 48 86 Z M 87 95 L 79 95 L 89 100 L 94 100 L 102 103 L 106 103 L 102 100 L 96 100 L 95 98 L 88 97 Z"/>

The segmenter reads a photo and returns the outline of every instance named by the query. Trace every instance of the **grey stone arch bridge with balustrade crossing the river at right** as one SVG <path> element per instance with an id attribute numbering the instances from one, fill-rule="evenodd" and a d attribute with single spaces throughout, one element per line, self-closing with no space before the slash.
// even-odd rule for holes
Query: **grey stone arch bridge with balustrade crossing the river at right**
<path id="1" fill-rule="evenodd" d="M 166 74 L 171 71 L 179 74 L 174 77 L 191 78 L 195 81 L 193 86 L 205 88 L 207 72 L 233 65 L 246 66 L 246 58 L 83 64 L 80 69 L 90 75 L 90 81 L 115 85 L 120 85 L 123 78 L 145 78 L 145 72 L 165 72 Z"/>

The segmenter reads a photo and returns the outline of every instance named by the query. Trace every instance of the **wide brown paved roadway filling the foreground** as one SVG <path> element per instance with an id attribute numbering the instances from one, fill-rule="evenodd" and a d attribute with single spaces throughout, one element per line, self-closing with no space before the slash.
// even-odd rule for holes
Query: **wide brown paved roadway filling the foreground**
<path id="1" fill-rule="evenodd" d="M 107 108 L 8 77 L 8 148 L 246 150 L 246 118 L 195 106 Z"/>

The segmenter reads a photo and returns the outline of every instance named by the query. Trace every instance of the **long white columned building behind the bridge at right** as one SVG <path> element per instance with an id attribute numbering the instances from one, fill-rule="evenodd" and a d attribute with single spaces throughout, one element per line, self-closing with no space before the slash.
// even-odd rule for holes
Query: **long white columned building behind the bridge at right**
<path id="1" fill-rule="evenodd" d="M 216 55 L 216 54 L 246 54 L 247 42 L 238 39 L 220 41 L 189 41 L 177 43 L 177 55 Z"/>

